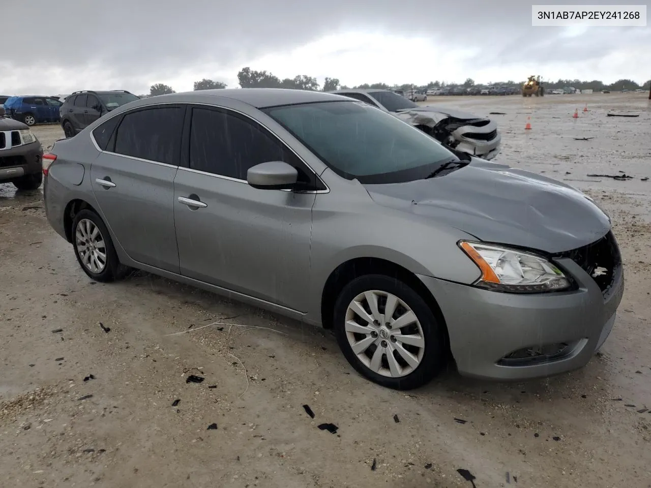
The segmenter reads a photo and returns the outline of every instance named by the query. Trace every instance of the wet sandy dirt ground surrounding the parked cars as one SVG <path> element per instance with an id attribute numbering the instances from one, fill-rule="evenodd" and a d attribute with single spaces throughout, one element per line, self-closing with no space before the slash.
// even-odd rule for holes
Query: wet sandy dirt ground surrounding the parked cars
<path id="1" fill-rule="evenodd" d="M 472 487 L 465 469 L 477 488 L 651 487 L 646 96 L 428 103 L 505 113 L 492 115 L 498 161 L 567 180 L 611 214 L 626 293 L 587 367 L 524 383 L 450 368 L 419 390 L 387 390 L 359 377 L 329 332 L 146 273 L 91 282 L 48 226 L 42 193 L 0 185 L 0 485 Z M 44 145 L 62 137 L 34 130 Z M 635 178 L 586 176 L 618 171 Z"/>

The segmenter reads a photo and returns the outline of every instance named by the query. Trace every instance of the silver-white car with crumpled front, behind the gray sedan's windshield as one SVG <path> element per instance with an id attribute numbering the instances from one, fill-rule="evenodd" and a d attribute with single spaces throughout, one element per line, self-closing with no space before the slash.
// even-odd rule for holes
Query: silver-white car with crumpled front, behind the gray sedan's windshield
<path id="1" fill-rule="evenodd" d="M 353 98 L 391 113 L 456 152 L 488 160 L 499 153 L 501 135 L 497 124 L 490 118 L 437 105 L 418 105 L 389 90 L 335 90 L 330 93 Z"/>

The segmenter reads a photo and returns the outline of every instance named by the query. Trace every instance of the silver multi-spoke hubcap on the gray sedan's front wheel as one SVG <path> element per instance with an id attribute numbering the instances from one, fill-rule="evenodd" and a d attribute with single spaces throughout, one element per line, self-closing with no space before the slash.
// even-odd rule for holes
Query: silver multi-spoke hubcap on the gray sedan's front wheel
<path id="1" fill-rule="evenodd" d="M 348 343 L 367 368 L 402 377 L 421 364 L 425 340 L 421 323 L 396 295 L 370 290 L 360 293 L 346 310 Z"/>

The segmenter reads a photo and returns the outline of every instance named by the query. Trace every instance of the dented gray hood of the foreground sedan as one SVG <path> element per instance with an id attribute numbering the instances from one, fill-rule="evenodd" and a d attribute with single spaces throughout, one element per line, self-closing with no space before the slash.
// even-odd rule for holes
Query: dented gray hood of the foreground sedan
<path id="1" fill-rule="evenodd" d="M 589 197 L 551 178 L 476 158 L 441 175 L 365 187 L 380 205 L 429 217 L 482 241 L 551 254 L 592 243 L 611 228 Z"/>

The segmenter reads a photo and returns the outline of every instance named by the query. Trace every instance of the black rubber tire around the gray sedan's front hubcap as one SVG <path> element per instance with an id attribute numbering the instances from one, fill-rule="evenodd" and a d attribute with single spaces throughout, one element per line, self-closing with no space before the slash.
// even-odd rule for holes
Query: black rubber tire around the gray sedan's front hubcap
<path id="1" fill-rule="evenodd" d="M 370 290 L 392 293 L 411 308 L 421 324 L 424 353 L 421 363 L 408 375 L 389 377 L 370 370 L 353 352 L 352 346 L 348 342 L 345 329 L 348 305 L 357 295 Z M 364 275 L 355 278 L 340 291 L 335 302 L 333 319 L 337 342 L 348 362 L 358 373 L 378 385 L 395 390 L 418 388 L 432 380 L 447 363 L 449 347 L 447 334 L 443 329 L 445 326 L 437 320 L 434 312 L 421 295 L 399 278 L 386 275 Z M 383 361 L 386 361 L 386 357 L 383 358 Z"/>

